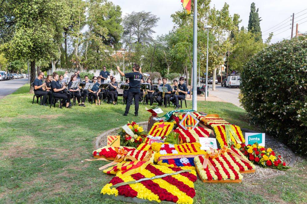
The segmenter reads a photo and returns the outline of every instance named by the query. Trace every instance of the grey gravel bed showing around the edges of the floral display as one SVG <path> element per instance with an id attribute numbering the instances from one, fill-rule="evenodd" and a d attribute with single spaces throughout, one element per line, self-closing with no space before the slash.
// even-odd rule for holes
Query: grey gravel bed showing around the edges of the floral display
<path id="1" fill-rule="evenodd" d="M 142 125 L 144 130 L 147 130 L 147 124 Z M 245 132 L 242 132 L 245 136 Z M 117 130 L 110 132 L 108 135 L 116 135 Z M 107 135 L 103 136 L 99 141 L 99 147 L 104 147 L 107 145 Z M 273 137 L 269 137 L 266 135 L 266 147 L 272 148 L 272 150 L 278 154 L 282 155 L 282 158 L 284 161 L 286 161 L 286 164 L 288 165 L 292 158 L 292 152 L 291 150 L 286 147 L 284 144 L 280 143 Z M 284 174 L 283 171 L 279 171 L 272 168 L 263 168 L 259 165 L 256 166 L 256 172 L 255 173 L 244 173 L 243 174 L 243 180 L 258 180 L 262 178 L 270 178 L 274 177 L 280 174 Z"/>

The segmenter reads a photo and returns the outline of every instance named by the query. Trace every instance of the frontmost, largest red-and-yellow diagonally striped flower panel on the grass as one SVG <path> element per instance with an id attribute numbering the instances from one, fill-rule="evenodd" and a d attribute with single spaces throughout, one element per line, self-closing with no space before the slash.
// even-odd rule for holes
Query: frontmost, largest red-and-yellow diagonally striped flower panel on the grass
<path id="1" fill-rule="evenodd" d="M 180 173 L 178 171 L 181 171 Z M 187 171 L 187 170 L 186 170 Z M 168 168 L 159 165 L 147 165 L 145 169 L 130 176 L 122 176 L 117 173 L 109 184 L 102 190 L 106 198 L 114 198 L 122 201 L 129 201 L 136 198 L 139 202 L 173 202 L 173 203 L 193 203 L 195 196 L 194 182 L 197 180 L 196 172 L 188 170 L 182 172 L 180 168 Z M 172 174 L 173 175 L 164 175 Z M 162 176 L 152 179 L 154 176 Z M 146 180 L 146 178 L 149 178 Z M 140 181 L 142 179 L 142 181 Z M 137 181 L 133 184 L 123 182 Z M 123 183 L 123 184 L 120 184 Z M 115 186 L 114 186 L 115 185 Z M 130 198 L 129 198 L 130 197 Z M 131 201 L 131 200 L 130 200 Z"/>

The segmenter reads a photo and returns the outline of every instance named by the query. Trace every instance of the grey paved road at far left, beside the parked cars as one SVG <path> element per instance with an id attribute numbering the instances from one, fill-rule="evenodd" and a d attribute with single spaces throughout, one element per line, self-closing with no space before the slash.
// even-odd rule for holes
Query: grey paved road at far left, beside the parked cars
<path id="1" fill-rule="evenodd" d="M 0 81 L 0 99 L 28 83 L 28 78 Z"/>

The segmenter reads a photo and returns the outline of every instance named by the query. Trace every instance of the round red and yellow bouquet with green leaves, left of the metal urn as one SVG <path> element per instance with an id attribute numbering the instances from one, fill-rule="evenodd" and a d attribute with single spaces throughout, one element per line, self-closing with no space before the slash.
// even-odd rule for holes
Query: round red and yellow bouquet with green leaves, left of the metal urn
<path id="1" fill-rule="evenodd" d="M 139 126 L 134 121 L 128 122 L 128 127 L 134 133 L 133 136 L 126 134 L 125 130 L 120 128 L 118 135 L 120 135 L 120 145 L 126 147 L 138 147 L 143 142 L 143 139 L 147 136 L 147 132 L 144 131 L 142 126 Z"/>

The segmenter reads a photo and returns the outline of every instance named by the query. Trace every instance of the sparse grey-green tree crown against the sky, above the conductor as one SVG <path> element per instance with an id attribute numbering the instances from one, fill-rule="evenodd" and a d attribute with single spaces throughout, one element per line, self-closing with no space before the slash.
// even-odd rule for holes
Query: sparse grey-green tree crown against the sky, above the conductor
<path id="1" fill-rule="evenodd" d="M 123 41 L 126 46 L 132 43 L 149 44 L 153 41 L 153 28 L 157 26 L 160 18 L 151 12 L 132 12 L 127 14 L 123 20 Z"/>

